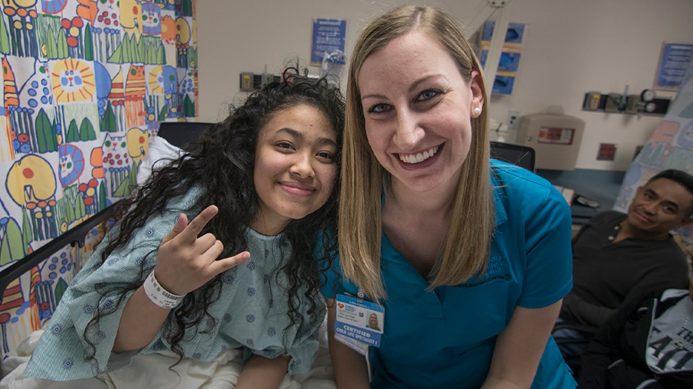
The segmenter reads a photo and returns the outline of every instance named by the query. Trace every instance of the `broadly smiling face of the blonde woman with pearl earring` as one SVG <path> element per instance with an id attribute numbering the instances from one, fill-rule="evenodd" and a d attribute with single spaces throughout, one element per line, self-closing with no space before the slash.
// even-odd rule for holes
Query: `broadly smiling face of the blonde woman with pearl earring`
<path id="1" fill-rule="evenodd" d="M 456 186 L 483 94 L 453 57 L 423 31 L 393 39 L 363 62 L 358 86 L 366 135 L 376 159 L 415 192 Z"/>

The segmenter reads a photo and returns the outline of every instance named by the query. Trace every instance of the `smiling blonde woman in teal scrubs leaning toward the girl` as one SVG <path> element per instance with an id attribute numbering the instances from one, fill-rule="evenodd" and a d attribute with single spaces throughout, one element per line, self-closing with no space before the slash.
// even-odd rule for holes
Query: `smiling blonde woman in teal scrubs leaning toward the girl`
<path id="1" fill-rule="evenodd" d="M 576 386 L 550 337 L 572 287 L 570 210 L 544 179 L 489 161 L 480 69 L 435 8 L 395 8 L 356 43 L 340 261 L 323 294 L 330 328 L 339 294 L 384 316 L 371 380 L 330 334 L 339 388 Z"/>

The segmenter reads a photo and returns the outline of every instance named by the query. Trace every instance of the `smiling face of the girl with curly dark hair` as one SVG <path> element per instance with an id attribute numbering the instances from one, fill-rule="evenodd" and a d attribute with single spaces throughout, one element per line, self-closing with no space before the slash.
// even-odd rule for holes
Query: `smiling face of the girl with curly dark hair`
<path id="1" fill-rule="evenodd" d="M 258 135 L 254 183 L 259 210 L 252 228 L 276 235 L 329 199 L 337 177 L 337 135 L 319 109 L 299 104 L 274 112 Z"/>

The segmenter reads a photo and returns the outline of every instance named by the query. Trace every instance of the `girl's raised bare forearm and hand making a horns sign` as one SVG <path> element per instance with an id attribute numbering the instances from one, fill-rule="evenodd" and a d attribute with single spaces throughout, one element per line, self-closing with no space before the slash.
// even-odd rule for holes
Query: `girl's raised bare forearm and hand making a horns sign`
<path id="1" fill-rule="evenodd" d="M 198 237 L 202 228 L 218 212 L 209 206 L 190 224 L 182 213 L 164 239 L 161 239 L 155 275 L 157 282 L 169 293 L 183 296 L 198 289 L 215 275 L 245 262 L 250 253 L 243 251 L 233 257 L 216 260 L 224 245 L 211 233 Z M 123 316 L 113 344 L 113 352 L 139 350 L 159 333 L 170 309 L 156 305 L 139 287 L 123 308 Z"/>

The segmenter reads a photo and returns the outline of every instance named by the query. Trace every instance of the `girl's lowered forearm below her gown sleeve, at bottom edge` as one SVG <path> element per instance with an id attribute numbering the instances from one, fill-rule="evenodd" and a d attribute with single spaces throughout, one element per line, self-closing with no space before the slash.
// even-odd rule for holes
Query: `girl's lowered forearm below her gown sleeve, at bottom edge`
<path id="1" fill-rule="evenodd" d="M 286 376 L 290 356 L 267 359 L 253 354 L 240 372 L 236 389 L 277 389 Z"/>

